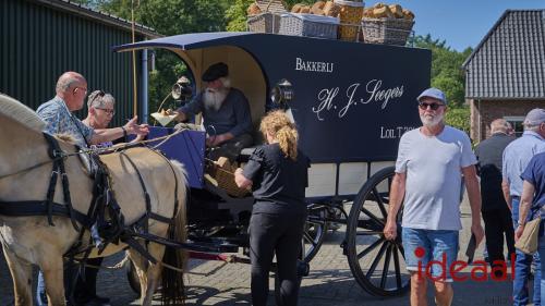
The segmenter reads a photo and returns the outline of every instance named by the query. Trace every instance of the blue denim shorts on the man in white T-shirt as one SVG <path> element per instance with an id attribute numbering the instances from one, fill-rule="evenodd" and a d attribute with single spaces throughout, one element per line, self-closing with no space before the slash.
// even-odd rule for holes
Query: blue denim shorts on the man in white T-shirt
<path id="1" fill-rule="evenodd" d="M 401 238 L 407 270 L 422 276 L 431 274 L 438 281 L 452 282 L 450 267 L 458 257 L 458 231 L 403 228 Z"/>

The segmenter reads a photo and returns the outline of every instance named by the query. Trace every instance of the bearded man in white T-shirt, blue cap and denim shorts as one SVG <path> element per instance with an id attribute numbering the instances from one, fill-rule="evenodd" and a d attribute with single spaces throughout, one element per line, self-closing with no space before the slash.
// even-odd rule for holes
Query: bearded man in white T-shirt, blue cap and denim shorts
<path id="1" fill-rule="evenodd" d="M 411 306 L 427 305 L 426 278 L 434 282 L 436 304 L 448 306 L 453 297 L 450 267 L 457 259 L 458 234 L 462 228 L 460 173 L 468 189 L 471 232 L 476 245 L 484 236 L 476 158 L 468 135 L 445 125 L 447 99 L 443 91 L 428 88 L 417 101 L 423 125 L 401 137 L 384 234 L 388 240 L 397 237 L 397 215 L 404 204 L 401 233 L 407 269 L 411 273 Z M 427 274 L 432 260 L 446 261 L 446 271 L 443 265 L 431 265 L 431 274 Z"/>

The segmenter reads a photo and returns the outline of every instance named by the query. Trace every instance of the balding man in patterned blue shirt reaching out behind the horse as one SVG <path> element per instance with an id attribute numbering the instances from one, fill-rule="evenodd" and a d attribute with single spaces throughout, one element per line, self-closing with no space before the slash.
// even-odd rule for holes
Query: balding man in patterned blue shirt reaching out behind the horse
<path id="1" fill-rule="evenodd" d="M 111 142 L 126 134 L 146 135 L 148 133 L 147 125 L 136 124 L 136 117 L 121 127 L 95 130 L 85 125 L 72 114 L 72 111 L 80 110 L 83 107 L 87 95 L 87 81 L 80 73 L 63 73 L 57 82 L 56 93 L 53 99 L 45 102 L 37 110 L 38 115 L 46 122 L 46 133 L 51 135 L 69 134 L 74 138 L 75 144 L 81 147 Z M 64 272 L 69 303 L 73 302 L 71 280 L 76 273 L 74 270 L 74 267 L 66 267 Z M 44 278 L 40 272 L 37 285 L 37 304 L 47 305 L 46 299 Z M 92 299 L 89 303 L 72 303 L 71 305 L 108 305 L 108 301 Z"/>

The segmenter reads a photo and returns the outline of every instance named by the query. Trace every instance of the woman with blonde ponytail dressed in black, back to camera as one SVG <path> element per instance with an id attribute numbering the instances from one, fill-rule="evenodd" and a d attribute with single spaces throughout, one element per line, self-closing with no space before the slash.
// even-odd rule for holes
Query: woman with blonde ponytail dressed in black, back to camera
<path id="1" fill-rule="evenodd" d="M 266 305 L 268 276 L 276 254 L 281 305 L 296 305 L 296 260 L 306 220 L 308 158 L 298 150 L 298 131 L 283 111 L 268 113 L 261 124 L 267 145 L 257 148 L 244 170 L 234 172 L 239 187 L 252 186 L 250 220 L 252 302 Z"/>

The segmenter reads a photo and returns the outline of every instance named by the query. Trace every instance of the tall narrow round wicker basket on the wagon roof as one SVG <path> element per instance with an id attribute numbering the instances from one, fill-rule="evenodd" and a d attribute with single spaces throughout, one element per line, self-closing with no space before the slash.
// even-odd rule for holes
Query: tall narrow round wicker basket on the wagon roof
<path id="1" fill-rule="evenodd" d="M 361 1 L 335 0 L 341 8 L 339 13 L 339 39 L 356 41 L 361 28 L 364 3 Z"/>

